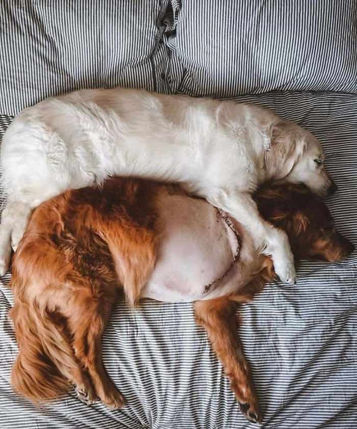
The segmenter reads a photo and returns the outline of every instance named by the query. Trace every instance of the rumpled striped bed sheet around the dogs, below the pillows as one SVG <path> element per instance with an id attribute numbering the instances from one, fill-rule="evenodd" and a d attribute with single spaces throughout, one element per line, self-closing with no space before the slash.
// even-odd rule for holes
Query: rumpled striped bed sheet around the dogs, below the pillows
<path id="1" fill-rule="evenodd" d="M 338 231 L 357 244 L 357 95 L 275 92 L 241 96 L 298 122 L 321 141 L 338 191 L 326 202 Z M 0 116 L 0 135 L 12 117 Z M 297 285 L 269 284 L 241 305 L 243 343 L 266 429 L 357 427 L 357 253 L 341 263 L 302 261 Z M 247 422 L 197 327 L 191 304 L 118 302 L 103 337 L 122 410 L 87 406 L 74 391 L 34 406 L 10 386 L 18 349 L 8 317 L 10 274 L 0 283 L 0 427 L 221 429 Z"/>

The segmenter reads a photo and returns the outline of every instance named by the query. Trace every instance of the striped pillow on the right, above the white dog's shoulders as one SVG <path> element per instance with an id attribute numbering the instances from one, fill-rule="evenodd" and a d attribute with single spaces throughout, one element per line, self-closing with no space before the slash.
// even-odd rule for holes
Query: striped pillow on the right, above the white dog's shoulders
<path id="1" fill-rule="evenodd" d="M 355 0 L 185 0 L 174 44 L 178 92 L 357 92 Z"/>

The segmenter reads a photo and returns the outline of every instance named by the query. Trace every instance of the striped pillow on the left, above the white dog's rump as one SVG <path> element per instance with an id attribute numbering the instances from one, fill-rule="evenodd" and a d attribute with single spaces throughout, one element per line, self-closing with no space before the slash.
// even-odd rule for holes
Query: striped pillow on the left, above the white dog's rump
<path id="1" fill-rule="evenodd" d="M 0 113 L 14 115 L 47 96 L 82 88 L 155 90 L 165 52 L 158 43 L 161 3 L 2 0 Z"/>

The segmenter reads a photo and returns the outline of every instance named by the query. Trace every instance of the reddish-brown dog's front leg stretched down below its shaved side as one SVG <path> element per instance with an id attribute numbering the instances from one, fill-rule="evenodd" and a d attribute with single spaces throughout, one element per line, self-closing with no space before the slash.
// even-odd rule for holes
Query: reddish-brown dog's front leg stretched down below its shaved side
<path id="1" fill-rule="evenodd" d="M 235 301 L 239 301 L 235 297 Z M 242 302 L 249 300 L 242 296 Z M 231 381 L 231 388 L 239 402 L 244 416 L 253 422 L 261 421 L 258 398 L 251 381 L 250 369 L 244 358 L 238 337 L 237 304 L 226 296 L 196 301 L 194 311 L 196 322 L 207 332 L 225 374 Z"/>

